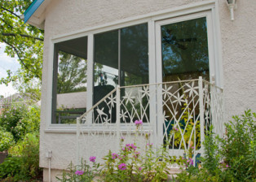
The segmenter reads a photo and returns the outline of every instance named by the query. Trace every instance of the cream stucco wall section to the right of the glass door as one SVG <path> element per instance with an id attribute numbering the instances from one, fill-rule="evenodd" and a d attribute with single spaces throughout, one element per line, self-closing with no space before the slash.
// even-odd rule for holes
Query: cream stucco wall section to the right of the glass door
<path id="1" fill-rule="evenodd" d="M 226 2 L 218 1 L 227 119 L 247 108 L 256 111 L 256 1 L 236 2 L 231 21 Z"/>

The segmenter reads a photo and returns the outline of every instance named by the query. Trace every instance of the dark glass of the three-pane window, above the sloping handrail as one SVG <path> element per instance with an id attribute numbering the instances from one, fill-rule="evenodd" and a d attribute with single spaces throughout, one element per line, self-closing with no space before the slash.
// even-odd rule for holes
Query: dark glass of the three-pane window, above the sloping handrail
<path id="1" fill-rule="evenodd" d="M 148 84 L 148 24 L 95 34 L 93 46 L 94 81 L 87 85 L 87 37 L 55 44 L 52 124 L 76 123 L 86 111 L 87 87 L 94 105 L 117 85 Z"/>

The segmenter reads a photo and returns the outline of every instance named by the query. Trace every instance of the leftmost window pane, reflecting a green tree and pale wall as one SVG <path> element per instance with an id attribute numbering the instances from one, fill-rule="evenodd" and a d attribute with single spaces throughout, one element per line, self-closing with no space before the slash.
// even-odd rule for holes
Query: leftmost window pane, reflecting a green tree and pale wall
<path id="1" fill-rule="evenodd" d="M 75 124 L 86 111 L 87 37 L 55 44 L 52 123 Z"/>

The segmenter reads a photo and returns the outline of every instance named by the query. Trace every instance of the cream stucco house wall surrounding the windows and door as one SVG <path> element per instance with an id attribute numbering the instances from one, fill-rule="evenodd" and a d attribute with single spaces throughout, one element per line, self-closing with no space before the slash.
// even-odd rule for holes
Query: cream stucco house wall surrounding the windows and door
<path id="1" fill-rule="evenodd" d="M 210 0 L 208 0 L 210 2 Z M 55 0 L 46 9 L 45 47 L 42 70 L 42 123 L 40 140 L 40 166 L 48 167 L 46 152 L 52 150 L 51 167 L 64 169 L 76 156 L 76 134 L 68 131 L 45 132 L 51 121 L 47 113 L 51 108 L 51 65 L 54 37 L 93 26 L 123 20 L 178 6 L 192 5 L 200 0 Z M 256 1 L 237 0 L 235 20 L 230 20 L 226 1 L 216 0 L 219 32 L 221 37 L 224 114 L 226 119 L 240 115 L 246 108 L 256 111 Z M 50 87 L 50 89 L 49 89 Z M 93 141 L 92 141 L 93 143 Z M 61 154 L 61 155 L 60 155 Z M 54 180 L 54 179 L 52 179 Z"/>

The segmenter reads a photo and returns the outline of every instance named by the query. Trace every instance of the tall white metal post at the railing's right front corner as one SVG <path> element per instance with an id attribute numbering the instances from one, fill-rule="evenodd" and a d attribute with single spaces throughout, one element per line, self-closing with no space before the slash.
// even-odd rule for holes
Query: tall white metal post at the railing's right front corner
<path id="1" fill-rule="evenodd" d="M 201 152 L 203 152 L 203 141 L 205 141 L 205 114 L 204 114 L 204 93 L 203 93 L 203 79 L 199 76 L 199 111 L 200 111 L 200 136 L 201 136 Z"/>

